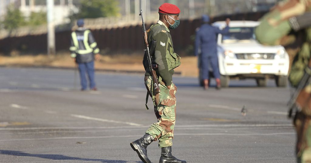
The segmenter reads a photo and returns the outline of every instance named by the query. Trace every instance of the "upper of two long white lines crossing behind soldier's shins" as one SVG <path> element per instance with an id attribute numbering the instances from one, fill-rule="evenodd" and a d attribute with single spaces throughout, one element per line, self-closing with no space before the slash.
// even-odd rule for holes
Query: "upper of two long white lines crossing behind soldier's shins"
<path id="1" fill-rule="evenodd" d="M 0 128 L 0 130 L 39 130 L 39 129 L 128 129 L 146 128 L 148 126 L 107 126 L 107 127 L 25 127 L 25 128 Z M 292 124 L 220 124 L 220 125 L 175 125 L 175 128 L 199 127 L 293 127 Z"/>

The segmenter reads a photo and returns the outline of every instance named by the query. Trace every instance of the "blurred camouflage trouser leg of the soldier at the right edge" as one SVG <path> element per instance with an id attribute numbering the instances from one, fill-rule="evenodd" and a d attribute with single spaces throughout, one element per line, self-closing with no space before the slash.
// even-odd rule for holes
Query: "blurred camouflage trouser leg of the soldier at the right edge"
<path id="1" fill-rule="evenodd" d="M 295 116 L 295 128 L 297 131 L 297 162 L 311 163 L 311 119 L 303 113 Z"/>

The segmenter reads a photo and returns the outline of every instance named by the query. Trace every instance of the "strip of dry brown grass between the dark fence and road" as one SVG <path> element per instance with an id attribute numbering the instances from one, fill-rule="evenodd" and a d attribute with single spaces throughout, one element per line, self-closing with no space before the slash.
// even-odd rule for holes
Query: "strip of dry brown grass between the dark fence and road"
<path id="1" fill-rule="evenodd" d="M 182 65 L 175 69 L 183 76 L 196 77 L 197 58 L 182 57 Z M 68 53 L 61 53 L 55 56 L 47 55 L 23 55 L 15 57 L 0 56 L 1 66 L 54 66 L 54 67 L 75 67 L 75 63 Z M 100 61 L 95 62 L 96 69 L 104 70 L 133 70 L 144 71 L 142 56 L 140 55 L 114 55 L 101 56 Z"/>

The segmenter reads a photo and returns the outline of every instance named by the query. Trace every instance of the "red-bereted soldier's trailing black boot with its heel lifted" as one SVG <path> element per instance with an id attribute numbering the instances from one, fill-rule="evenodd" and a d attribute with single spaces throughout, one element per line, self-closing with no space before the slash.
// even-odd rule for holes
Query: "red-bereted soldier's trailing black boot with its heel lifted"
<path id="1" fill-rule="evenodd" d="M 131 147 L 134 151 L 137 152 L 139 158 L 144 163 L 151 163 L 151 161 L 147 157 L 147 146 L 153 142 L 153 137 L 149 134 L 145 134 L 142 138 L 135 140 L 130 143 Z"/>

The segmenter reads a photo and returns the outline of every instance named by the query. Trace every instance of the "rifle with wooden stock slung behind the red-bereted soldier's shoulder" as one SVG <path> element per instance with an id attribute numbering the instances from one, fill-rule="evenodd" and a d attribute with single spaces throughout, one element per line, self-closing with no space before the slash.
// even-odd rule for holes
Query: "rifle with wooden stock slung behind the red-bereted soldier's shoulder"
<path id="1" fill-rule="evenodd" d="M 142 16 L 142 10 L 140 10 L 140 16 Z M 160 85 L 159 85 L 159 81 L 158 78 L 156 76 L 156 70 L 154 70 L 153 68 L 153 61 L 152 61 L 152 57 L 150 56 L 150 51 L 149 51 L 149 44 L 148 44 L 148 40 L 147 40 L 147 32 L 146 32 L 146 27 L 145 27 L 145 22 L 144 22 L 144 18 L 142 17 L 142 32 L 143 32 L 143 37 L 144 37 L 144 43 L 145 43 L 145 51 L 146 51 L 146 57 L 147 57 L 147 61 L 148 61 L 148 68 L 149 71 L 152 74 L 152 79 L 153 79 L 153 84 L 154 84 L 154 93 L 158 94 L 160 93 Z M 153 41 L 152 43 L 152 48 L 154 49 L 156 45 L 156 41 Z"/>

